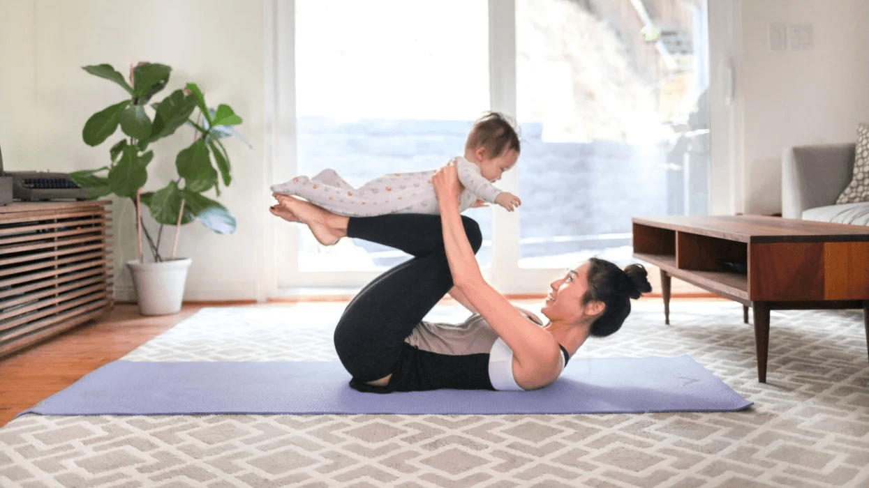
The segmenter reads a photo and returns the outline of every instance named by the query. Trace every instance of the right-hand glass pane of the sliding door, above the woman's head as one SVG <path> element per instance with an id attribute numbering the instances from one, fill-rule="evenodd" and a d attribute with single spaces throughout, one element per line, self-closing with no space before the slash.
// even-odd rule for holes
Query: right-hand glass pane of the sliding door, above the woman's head
<path id="1" fill-rule="evenodd" d="M 516 0 L 521 267 L 625 262 L 633 215 L 708 212 L 706 25 L 706 0 Z"/>

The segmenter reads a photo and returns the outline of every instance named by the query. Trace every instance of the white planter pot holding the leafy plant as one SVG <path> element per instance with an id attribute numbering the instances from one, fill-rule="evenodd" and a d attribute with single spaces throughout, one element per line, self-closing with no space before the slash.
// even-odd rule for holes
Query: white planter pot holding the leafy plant
<path id="1" fill-rule="evenodd" d="M 127 261 L 133 287 L 136 287 L 139 313 L 166 315 L 181 312 L 190 262 L 190 258 L 146 263 Z"/>

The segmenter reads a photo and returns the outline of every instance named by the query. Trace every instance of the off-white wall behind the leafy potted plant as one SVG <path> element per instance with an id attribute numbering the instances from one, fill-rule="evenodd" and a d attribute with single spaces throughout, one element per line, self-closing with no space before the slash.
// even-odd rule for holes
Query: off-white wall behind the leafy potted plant
<path id="1" fill-rule="evenodd" d="M 193 258 L 185 300 L 262 298 L 263 232 L 269 198 L 264 176 L 266 54 L 263 3 L 237 0 L 15 0 L 0 2 L 0 141 L 7 169 L 69 172 L 108 162 L 115 135 L 102 146 L 82 141 L 84 122 L 120 102 L 123 89 L 81 69 L 109 63 L 126 75 L 129 63 L 173 68 L 156 99 L 196 82 L 209 105 L 227 103 L 242 116 L 239 140 L 226 142 L 234 181 L 219 200 L 235 215 L 235 234 L 219 235 L 198 222 L 182 227 L 178 254 Z M 182 128 L 155 144 L 163 171 L 146 190 L 163 187 L 177 151 L 192 133 Z M 113 205 L 116 297 L 132 298 L 123 260 L 136 258 L 132 205 Z M 163 241 L 171 247 L 172 229 Z"/>

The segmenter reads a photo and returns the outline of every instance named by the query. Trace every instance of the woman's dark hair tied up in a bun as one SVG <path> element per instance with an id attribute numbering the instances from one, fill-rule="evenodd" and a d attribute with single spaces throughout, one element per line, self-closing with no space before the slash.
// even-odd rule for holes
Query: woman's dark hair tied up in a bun
<path id="1" fill-rule="evenodd" d="M 591 335 L 606 337 L 621 328 L 621 324 L 631 313 L 631 299 L 640 298 L 641 293 L 652 291 L 647 279 L 646 268 L 632 264 L 624 270 L 607 260 L 591 258 L 588 260 L 588 289 L 582 295 L 582 305 L 589 301 L 600 300 L 604 311 L 594 320 Z"/>

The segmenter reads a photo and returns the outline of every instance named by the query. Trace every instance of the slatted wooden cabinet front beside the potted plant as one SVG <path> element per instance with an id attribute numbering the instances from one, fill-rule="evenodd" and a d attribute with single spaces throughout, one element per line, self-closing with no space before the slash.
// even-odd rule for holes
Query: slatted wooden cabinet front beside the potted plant
<path id="1" fill-rule="evenodd" d="M 108 203 L 0 207 L 0 357 L 109 312 Z"/>

